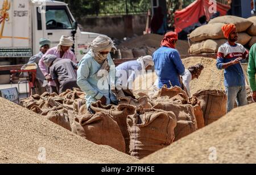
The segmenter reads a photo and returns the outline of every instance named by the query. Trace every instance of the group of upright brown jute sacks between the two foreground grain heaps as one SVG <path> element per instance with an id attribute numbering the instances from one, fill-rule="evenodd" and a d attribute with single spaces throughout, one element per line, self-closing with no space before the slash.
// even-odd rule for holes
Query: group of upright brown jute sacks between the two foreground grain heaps
<path id="1" fill-rule="evenodd" d="M 104 106 L 100 101 L 88 113 L 84 93 L 79 89 L 34 95 L 22 105 L 52 122 L 96 144 L 142 159 L 169 146 L 226 113 L 223 91 L 204 90 L 192 98 L 179 87 L 163 87 L 149 98 L 119 97 L 119 105 Z"/>

